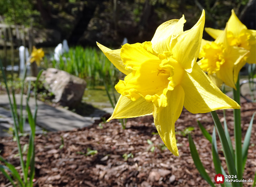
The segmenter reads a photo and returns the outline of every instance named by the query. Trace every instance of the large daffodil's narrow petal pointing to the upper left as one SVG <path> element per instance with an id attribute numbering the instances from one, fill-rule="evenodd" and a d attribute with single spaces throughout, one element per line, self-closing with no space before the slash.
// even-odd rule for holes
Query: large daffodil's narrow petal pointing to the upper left
<path id="1" fill-rule="evenodd" d="M 97 42 L 98 47 L 106 55 L 106 57 L 114 64 L 114 66 L 122 73 L 128 75 L 132 72 L 130 69 L 125 69 L 125 65 L 120 57 L 120 49 L 111 50 Z"/>

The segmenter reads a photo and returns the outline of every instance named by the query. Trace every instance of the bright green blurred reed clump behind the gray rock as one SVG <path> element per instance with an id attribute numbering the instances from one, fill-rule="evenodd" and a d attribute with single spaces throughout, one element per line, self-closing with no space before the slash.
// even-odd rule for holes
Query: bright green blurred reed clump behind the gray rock
<path id="1" fill-rule="evenodd" d="M 107 84 L 117 80 L 118 70 L 101 51 L 92 47 L 71 47 L 68 53 L 60 56 L 59 61 L 53 60 L 52 66 L 90 80 L 89 86 L 103 83 L 103 80 Z"/>

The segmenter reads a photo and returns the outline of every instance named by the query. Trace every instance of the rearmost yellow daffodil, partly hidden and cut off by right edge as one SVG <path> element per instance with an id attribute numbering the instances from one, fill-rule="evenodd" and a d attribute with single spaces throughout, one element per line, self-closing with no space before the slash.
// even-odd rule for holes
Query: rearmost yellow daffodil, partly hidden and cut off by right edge
<path id="1" fill-rule="evenodd" d="M 205 28 L 205 31 L 216 39 L 223 30 Z M 238 19 L 234 10 L 227 22 L 227 41 L 230 46 L 242 47 L 249 50 L 246 61 L 249 64 L 256 63 L 256 31 L 247 29 L 247 27 Z"/>

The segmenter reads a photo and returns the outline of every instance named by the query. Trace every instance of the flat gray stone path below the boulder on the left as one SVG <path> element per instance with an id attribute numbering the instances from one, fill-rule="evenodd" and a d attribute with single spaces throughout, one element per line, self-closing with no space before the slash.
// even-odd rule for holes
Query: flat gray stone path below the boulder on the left
<path id="1" fill-rule="evenodd" d="M 15 95 L 16 103 L 20 104 L 20 95 Z M 23 96 L 23 108 L 25 111 L 26 96 Z M 83 117 L 68 111 L 62 107 L 52 107 L 45 104 L 42 101 L 37 101 L 38 112 L 37 112 L 37 130 L 42 131 L 42 129 L 47 131 L 69 131 L 74 128 L 83 128 L 85 126 L 90 126 L 94 122 L 93 117 Z M 29 99 L 29 106 L 32 114 L 35 109 L 35 99 Z M 18 109 L 19 111 L 19 109 Z M 13 124 L 10 108 L 9 99 L 7 95 L 0 95 L 0 137 L 6 136 L 6 132 L 3 129 L 9 129 L 8 126 Z M 25 129 L 30 129 L 29 124 L 25 124 Z"/>

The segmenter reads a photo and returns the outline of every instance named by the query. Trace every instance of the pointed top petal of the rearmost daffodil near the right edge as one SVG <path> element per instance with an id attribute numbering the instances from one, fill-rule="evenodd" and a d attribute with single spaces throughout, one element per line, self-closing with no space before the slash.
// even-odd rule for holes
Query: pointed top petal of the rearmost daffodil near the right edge
<path id="1" fill-rule="evenodd" d="M 238 37 L 240 32 L 243 29 L 247 29 L 247 27 L 238 19 L 237 15 L 235 14 L 233 9 L 231 11 L 231 16 L 230 16 L 227 24 L 228 24 L 227 31 L 231 31 L 235 37 Z"/>

